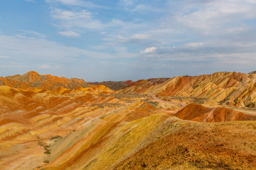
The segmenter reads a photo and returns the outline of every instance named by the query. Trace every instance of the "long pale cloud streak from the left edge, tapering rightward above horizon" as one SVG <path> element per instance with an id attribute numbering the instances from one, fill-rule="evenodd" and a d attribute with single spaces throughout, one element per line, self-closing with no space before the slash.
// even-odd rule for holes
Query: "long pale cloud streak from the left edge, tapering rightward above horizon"
<path id="1" fill-rule="evenodd" d="M 65 46 L 57 42 L 51 42 L 46 39 L 19 39 L 16 36 L 0 35 L 0 51 L 3 54 L 9 54 L 13 58 L 18 59 L 46 59 L 55 60 L 59 59 L 69 60 L 82 57 L 86 58 L 99 58 L 99 59 L 118 59 L 135 57 L 133 53 L 129 53 L 126 49 L 117 50 L 115 52 L 97 52 L 75 47 Z"/>

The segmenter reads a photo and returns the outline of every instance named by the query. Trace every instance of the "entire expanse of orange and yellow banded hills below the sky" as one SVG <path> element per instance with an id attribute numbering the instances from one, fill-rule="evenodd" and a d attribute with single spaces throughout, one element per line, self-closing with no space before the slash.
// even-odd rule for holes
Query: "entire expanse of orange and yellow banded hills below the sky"
<path id="1" fill-rule="evenodd" d="M 0 77 L 0 170 L 256 170 L 256 72 Z"/>

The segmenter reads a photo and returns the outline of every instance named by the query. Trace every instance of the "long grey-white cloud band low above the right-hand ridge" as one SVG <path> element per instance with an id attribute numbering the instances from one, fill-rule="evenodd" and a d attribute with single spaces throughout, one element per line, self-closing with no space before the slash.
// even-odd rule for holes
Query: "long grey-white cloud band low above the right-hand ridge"
<path id="1" fill-rule="evenodd" d="M 186 63 L 197 64 L 198 68 L 205 67 L 212 63 L 212 68 L 253 68 L 256 64 L 256 42 L 190 42 L 178 47 L 160 46 L 155 53 L 147 53 L 143 56 L 146 60 L 154 62 L 178 63 L 177 66 L 186 65 Z M 184 62 L 186 61 L 186 62 Z M 184 62 L 184 63 L 183 63 Z M 241 64 L 239 67 L 231 63 Z M 247 66 L 246 66 L 247 64 Z M 209 68 L 210 69 L 210 68 Z"/>

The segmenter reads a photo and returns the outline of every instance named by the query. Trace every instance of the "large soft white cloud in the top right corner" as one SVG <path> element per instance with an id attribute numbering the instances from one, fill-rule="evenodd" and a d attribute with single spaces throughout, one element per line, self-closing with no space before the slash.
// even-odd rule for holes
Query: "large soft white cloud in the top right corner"
<path id="1" fill-rule="evenodd" d="M 246 29 L 242 20 L 256 17 L 256 6 L 239 0 L 217 0 L 193 5 L 184 7 L 184 12 L 174 18 L 183 28 L 202 34 L 221 34 L 233 27 Z"/>

